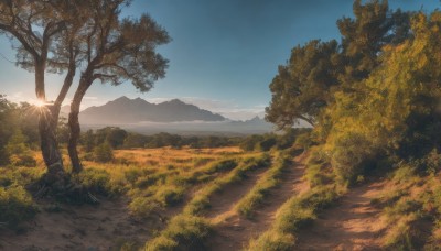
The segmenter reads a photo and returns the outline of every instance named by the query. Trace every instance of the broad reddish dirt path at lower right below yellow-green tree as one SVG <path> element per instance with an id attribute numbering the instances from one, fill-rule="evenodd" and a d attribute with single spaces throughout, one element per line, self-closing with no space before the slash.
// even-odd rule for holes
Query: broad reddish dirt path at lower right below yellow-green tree
<path id="1" fill-rule="evenodd" d="M 313 226 L 298 233 L 297 250 L 380 250 L 384 223 L 370 200 L 386 182 L 356 187 L 338 205 L 323 211 Z"/>

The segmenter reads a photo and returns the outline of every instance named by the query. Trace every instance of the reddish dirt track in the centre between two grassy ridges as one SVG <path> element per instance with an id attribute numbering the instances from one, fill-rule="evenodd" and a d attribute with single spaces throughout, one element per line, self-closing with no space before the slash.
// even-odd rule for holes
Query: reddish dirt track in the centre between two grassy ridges
<path id="1" fill-rule="evenodd" d="M 265 204 L 255 211 L 252 220 L 237 215 L 233 210 L 234 204 L 228 210 L 213 218 L 213 221 L 217 223 L 215 227 L 217 234 L 209 242 L 211 250 L 241 250 L 251 238 L 258 237 L 271 226 L 277 210 L 284 201 L 294 193 L 300 194 L 308 190 L 308 183 L 302 181 L 304 166 L 300 163 L 301 161 L 301 156 L 297 157 L 292 167 L 284 172 L 280 186 L 275 188 Z"/>

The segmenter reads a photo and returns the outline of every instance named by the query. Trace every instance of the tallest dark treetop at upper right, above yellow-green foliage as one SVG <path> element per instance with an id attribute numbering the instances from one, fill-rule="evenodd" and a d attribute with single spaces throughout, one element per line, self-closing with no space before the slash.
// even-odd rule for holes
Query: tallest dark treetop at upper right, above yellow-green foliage
<path id="1" fill-rule="evenodd" d="M 366 79 L 378 65 L 381 47 L 399 44 L 410 36 L 410 13 L 391 11 L 387 0 L 354 1 L 355 19 L 337 21 L 344 62 L 341 81 L 352 86 Z"/>

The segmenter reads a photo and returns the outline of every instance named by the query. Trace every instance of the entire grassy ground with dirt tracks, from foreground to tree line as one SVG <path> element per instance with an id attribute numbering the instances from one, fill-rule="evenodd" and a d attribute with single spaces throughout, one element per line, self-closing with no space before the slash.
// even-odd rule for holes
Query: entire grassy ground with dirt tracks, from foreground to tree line
<path id="1" fill-rule="evenodd" d="M 72 175 L 101 200 L 92 208 L 35 199 L 25 187 L 44 173 L 40 156 L 37 167 L 0 168 L 0 249 L 29 248 L 43 233 L 54 239 L 36 241 L 42 249 L 60 248 L 52 243 L 64 243 L 66 236 L 76 243 L 68 249 L 78 250 L 96 243 L 112 250 L 358 247 L 347 242 L 356 233 L 342 225 L 379 229 L 384 234 L 357 236 L 377 248 L 439 244 L 440 178 L 412 165 L 352 188 L 336 183 L 314 151 L 161 148 L 114 154 L 108 163 L 84 161 L 85 171 Z M 51 220 L 64 227 L 45 229 Z"/>

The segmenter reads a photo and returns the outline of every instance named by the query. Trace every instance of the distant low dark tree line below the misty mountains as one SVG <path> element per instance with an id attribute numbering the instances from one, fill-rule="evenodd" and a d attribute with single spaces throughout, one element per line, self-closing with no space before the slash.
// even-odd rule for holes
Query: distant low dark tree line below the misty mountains
<path id="1" fill-rule="evenodd" d="M 35 166 L 33 152 L 41 143 L 39 134 L 39 108 L 26 102 L 8 101 L 0 95 L 0 166 Z M 284 133 L 266 133 L 244 137 L 179 135 L 161 132 L 152 135 L 130 132 L 118 127 L 87 130 L 80 133 L 78 144 L 87 160 L 109 162 L 114 150 L 155 149 L 171 146 L 191 149 L 239 146 L 244 151 L 270 151 L 292 146 L 299 135 L 310 129 L 287 129 Z M 61 145 L 69 142 L 69 128 L 60 118 L 55 139 Z"/>

